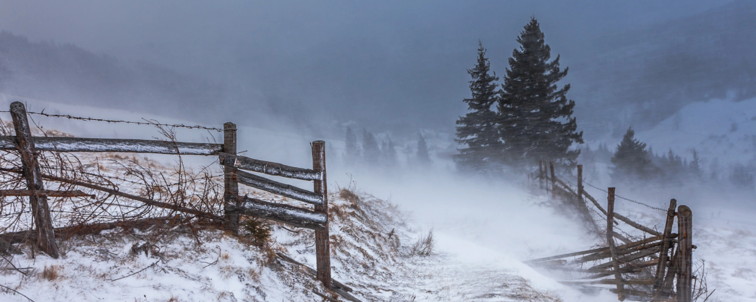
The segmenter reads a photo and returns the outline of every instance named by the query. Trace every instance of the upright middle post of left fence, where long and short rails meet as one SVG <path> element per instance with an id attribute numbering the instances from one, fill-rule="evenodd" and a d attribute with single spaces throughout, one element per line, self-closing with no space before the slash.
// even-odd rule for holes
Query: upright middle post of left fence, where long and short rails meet
<path id="1" fill-rule="evenodd" d="M 227 122 L 223 124 L 223 152 L 231 155 L 237 154 L 237 128 L 236 124 Z M 239 233 L 239 214 L 236 210 L 241 200 L 239 196 L 239 183 L 237 182 L 236 168 L 223 166 L 223 211 L 226 219 L 225 229 L 237 235 Z"/>

